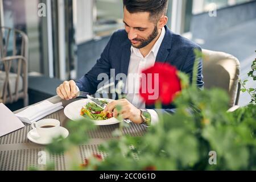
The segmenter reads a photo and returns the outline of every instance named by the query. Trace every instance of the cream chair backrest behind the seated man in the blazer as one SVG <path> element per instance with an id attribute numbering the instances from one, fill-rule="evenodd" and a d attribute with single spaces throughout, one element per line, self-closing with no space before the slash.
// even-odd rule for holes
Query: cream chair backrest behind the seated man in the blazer
<path id="1" fill-rule="evenodd" d="M 229 106 L 238 105 L 240 94 L 240 62 L 228 53 L 203 49 L 205 88 L 222 88 L 230 97 Z"/>

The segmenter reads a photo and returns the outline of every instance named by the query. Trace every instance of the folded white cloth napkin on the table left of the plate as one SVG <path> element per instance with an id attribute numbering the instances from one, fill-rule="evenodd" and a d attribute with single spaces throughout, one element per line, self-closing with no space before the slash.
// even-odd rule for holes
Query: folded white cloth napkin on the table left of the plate
<path id="1" fill-rule="evenodd" d="M 34 121 L 46 117 L 49 114 L 63 109 L 62 103 L 52 104 L 49 101 L 43 101 L 34 106 L 29 106 L 27 109 L 15 114 L 22 122 L 31 124 Z"/>

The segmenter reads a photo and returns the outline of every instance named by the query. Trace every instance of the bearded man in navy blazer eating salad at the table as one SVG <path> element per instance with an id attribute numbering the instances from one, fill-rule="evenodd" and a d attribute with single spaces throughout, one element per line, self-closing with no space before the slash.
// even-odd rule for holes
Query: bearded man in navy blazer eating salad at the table
<path id="1" fill-rule="evenodd" d="M 187 73 L 192 80 L 194 49 L 201 48 L 183 36 L 174 34 L 166 26 L 168 0 L 123 0 L 124 30 L 113 33 L 100 59 L 94 67 L 77 81 L 64 81 L 57 89 L 57 94 L 69 100 L 76 97 L 77 92 L 93 94 L 101 80 L 101 73 L 110 76 L 123 73 L 126 98 L 110 102 L 105 111 L 114 117 L 121 114 L 122 118 L 130 119 L 137 124 L 147 126 L 158 122 L 158 112 L 172 112 L 172 105 L 165 105 L 156 110 L 154 106 L 145 105 L 139 97 L 139 75 L 144 69 L 152 67 L 156 62 L 168 63 L 179 71 Z M 197 68 L 197 86 L 203 87 L 202 61 Z M 135 79 L 133 79 L 135 78 Z M 115 85 L 117 80 L 115 80 Z M 129 90 L 132 92 L 129 92 Z M 122 110 L 117 111 L 120 105 Z"/>

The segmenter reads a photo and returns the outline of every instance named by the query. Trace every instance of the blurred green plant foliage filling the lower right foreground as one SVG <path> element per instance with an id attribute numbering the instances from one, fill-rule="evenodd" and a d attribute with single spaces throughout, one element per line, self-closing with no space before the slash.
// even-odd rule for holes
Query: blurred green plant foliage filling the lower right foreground
<path id="1" fill-rule="evenodd" d="M 106 157 L 92 154 L 80 164 L 77 146 L 88 142 L 86 131 L 96 126 L 88 119 L 70 121 L 69 137 L 54 139 L 49 153 L 65 152 L 71 170 L 255 170 L 255 102 L 229 112 L 226 92 L 186 86 L 188 78 L 180 77 L 183 89 L 174 100 L 176 112 L 159 115 L 159 123 L 142 137 L 123 135 L 123 127 L 129 126 L 121 122 L 113 133 L 116 138 L 98 147 Z"/>

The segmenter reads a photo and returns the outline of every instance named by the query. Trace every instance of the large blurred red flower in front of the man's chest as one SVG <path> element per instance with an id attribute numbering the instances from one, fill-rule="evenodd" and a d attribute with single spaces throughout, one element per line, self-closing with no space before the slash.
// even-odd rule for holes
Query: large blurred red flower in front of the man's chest
<path id="1" fill-rule="evenodd" d="M 155 63 L 153 67 L 142 71 L 139 93 L 146 104 L 155 104 L 156 100 L 166 105 L 171 104 L 180 90 L 177 69 L 170 64 Z"/>

